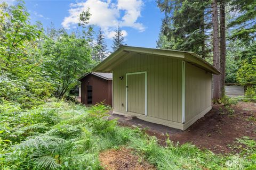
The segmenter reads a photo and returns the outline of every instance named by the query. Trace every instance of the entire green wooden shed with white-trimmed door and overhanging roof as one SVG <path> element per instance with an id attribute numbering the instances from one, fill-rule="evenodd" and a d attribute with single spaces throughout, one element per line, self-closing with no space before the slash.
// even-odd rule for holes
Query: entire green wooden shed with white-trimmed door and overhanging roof
<path id="1" fill-rule="evenodd" d="M 113 73 L 113 113 L 186 130 L 212 108 L 212 74 L 195 53 L 122 46 L 94 72 Z"/>

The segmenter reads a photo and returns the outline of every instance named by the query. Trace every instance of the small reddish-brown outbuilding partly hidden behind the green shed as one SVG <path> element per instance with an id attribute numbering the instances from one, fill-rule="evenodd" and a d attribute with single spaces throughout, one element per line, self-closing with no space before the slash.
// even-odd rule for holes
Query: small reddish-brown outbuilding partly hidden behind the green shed
<path id="1" fill-rule="evenodd" d="M 81 103 L 95 105 L 104 101 L 112 105 L 112 73 L 89 72 L 81 81 Z"/>

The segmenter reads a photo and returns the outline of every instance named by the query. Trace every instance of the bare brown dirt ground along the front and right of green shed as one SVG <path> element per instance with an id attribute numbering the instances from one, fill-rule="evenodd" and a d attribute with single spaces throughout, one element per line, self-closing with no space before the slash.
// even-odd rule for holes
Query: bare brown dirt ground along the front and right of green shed
<path id="1" fill-rule="evenodd" d="M 234 109 L 234 113 L 233 113 Z M 186 131 L 169 128 L 135 118 L 127 120 L 124 116 L 111 114 L 110 118 L 119 117 L 123 126 L 137 125 L 147 128 L 149 135 L 155 135 L 162 145 L 165 145 L 166 133 L 174 142 L 191 142 L 199 148 L 210 149 L 215 153 L 227 153 L 229 145 L 236 138 L 244 136 L 256 140 L 256 104 L 239 102 L 228 108 L 223 105 L 213 105 L 212 110 L 191 125 Z"/>

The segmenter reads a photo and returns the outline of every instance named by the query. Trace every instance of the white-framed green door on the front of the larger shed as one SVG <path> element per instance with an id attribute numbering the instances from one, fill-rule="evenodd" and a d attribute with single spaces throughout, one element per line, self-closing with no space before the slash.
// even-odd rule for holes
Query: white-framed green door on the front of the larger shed
<path id="1" fill-rule="evenodd" d="M 145 74 L 127 75 L 127 106 L 129 112 L 145 115 Z"/>

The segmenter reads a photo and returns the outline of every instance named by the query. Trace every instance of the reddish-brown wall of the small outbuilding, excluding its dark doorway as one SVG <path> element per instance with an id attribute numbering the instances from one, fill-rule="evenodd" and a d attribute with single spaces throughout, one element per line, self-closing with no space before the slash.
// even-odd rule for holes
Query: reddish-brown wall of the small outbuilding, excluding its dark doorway
<path id="1" fill-rule="evenodd" d="M 89 74 L 81 80 L 81 102 L 87 104 L 87 86 L 92 86 L 92 104 L 105 100 L 112 105 L 112 80 L 102 79 Z"/>

